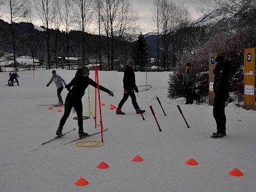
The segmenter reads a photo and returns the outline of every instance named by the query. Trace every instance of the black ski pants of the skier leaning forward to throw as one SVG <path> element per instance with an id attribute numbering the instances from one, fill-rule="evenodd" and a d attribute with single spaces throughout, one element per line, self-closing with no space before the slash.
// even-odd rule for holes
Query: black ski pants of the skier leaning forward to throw
<path id="1" fill-rule="evenodd" d="M 63 126 L 65 125 L 65 122 L 67 121 L 68 116 L 70 115 L 70 112 L 72 110 L 72 107 L 74 106 L 77 114 L 77 124 L 79 131 L 83 131 L 83 105 L 82 105 L 82 99 L 74 97 L 70 93 L 68 93 L 66 100 L 65 100 L 65 111 L 64 115 L 62 116 L 60 120 L 60 129 L 63 129 Z"/>

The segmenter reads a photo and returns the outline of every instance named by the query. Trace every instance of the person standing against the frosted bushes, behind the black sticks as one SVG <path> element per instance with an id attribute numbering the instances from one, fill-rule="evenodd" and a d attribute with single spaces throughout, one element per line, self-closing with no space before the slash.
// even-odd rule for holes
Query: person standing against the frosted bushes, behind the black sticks
<path id="1" fill-rule="evenodd" d="M 186 64 L 186 70 L 184 72 L 183 77 L 183 86 L 186 92 L 186 103 L 185 104 L 193 104 L 193 90 L 195 86 L 196 72 L 191 67 L 190 63 Z"/>

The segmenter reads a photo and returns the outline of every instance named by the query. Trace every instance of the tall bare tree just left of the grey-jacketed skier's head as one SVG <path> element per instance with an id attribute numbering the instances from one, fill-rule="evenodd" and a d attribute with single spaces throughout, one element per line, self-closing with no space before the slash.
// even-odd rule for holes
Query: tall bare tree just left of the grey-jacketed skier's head
<path id="1" fill-rule="evenodd" d="M 56 14 L 56 1 L 57 0 L 34 0 L 35 9 L 40 19 L 42 20 L 45 28 L 45 41 L 46 41 L 46 55 L 45 62 L 46 68 L 51 68 L 51 54 L 50 54 L 50 29 Z"/>

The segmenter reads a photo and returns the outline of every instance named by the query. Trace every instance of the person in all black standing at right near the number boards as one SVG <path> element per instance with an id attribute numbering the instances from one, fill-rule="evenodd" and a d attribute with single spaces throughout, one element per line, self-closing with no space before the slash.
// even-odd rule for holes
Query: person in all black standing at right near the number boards
<path id="1" fill-rule="evenodd" d="M 213 116 L 217 124 L 217 132 L 213 132 L 211 138 L 223 138 L 226 135 L 225 101 L 229 97 L 228 77 L 230 61 L 225 61 L 223 56 L 218 56 L 214 67 L 214 102 Z"/>

